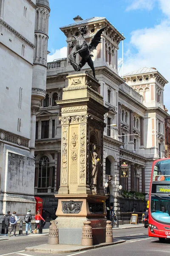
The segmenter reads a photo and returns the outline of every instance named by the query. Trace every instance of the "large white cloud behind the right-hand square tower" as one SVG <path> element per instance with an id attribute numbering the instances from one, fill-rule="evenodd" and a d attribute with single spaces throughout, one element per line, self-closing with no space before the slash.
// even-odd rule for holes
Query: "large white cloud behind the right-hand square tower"
<path id="1" fill-rule="evenodd" d="M 130 46 L 137 49 L 136 54 L 127 50 L 124 58 L 124 74 L 141 67 L 156 67 L 170 81 L 170 22 L 165 20 L 153 28 L 138 29 L 131 33 Z M 122 71 L 120 70 L 120 75 Z M 170 111 L 170 88 L 164 87 L 164 105 Z"/>

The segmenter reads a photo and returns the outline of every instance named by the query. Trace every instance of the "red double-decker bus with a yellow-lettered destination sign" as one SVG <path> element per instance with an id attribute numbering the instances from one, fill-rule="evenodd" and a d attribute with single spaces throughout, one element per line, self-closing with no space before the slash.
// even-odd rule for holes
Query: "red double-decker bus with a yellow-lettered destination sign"
<path id="1" fill-rule="evenodd" d="M 170 238 L 170 158 L 153 162 L 148 212 L 149 236 Z"/>

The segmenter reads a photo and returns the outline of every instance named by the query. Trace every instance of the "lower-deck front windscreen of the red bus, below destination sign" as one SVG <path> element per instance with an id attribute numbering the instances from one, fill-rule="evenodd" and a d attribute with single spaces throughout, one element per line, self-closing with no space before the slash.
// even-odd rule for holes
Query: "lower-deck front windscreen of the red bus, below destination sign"
<path id="1" fill-rule="evenodd" d="M 151 215 L 159 222 L 170 224 L 170 197 L 151 196 Z"/>

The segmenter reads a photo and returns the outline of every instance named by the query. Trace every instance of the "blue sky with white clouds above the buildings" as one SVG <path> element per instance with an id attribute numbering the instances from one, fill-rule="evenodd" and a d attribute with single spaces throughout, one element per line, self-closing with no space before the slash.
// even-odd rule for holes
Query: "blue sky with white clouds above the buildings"
<path id="1" fill-rule="evenodd" d="M 124 73 L 144 66 L 156 67 L 170 81 L 170 0 L 49 0 L 49 3 L 48 61 L 66 54 L 66 38 L 59 27 L 74 23 L 77 15 L 83 19 L 106 17 L 125 36 Z M 119 47 L 121 61 L 122 43 Z M 164 89 L 164 104 L 170 112 L 169 84 Z"/>

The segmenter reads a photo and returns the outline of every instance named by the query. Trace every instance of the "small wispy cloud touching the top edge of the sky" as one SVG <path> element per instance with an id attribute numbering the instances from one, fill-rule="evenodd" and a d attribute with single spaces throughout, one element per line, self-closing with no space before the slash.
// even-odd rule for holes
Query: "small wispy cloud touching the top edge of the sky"
<path id="1" fill-rule="evenodd" d="M 156 0 L 133 0 L 130 6 L 127 6 L 126 11 L 147 9 L 152 10 Z"/>

